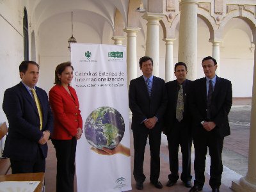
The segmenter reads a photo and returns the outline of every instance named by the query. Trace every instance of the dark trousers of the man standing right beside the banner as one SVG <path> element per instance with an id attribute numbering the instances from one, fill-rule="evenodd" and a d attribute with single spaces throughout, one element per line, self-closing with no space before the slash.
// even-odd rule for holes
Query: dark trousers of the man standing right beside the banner
<path id="1" fill-rule="evenodd" d="M 140 130 L 138 130 L 140 129 Z M 159 127 L 147 129 L 146 127 L 138 127 L 133 131 L 134 144 L 134 169 L 133 175 L 136 182 L 144 182 L 146 177 L 143 173 L 143 162 L 145 146 L 147 138 L 150 145 L 150 181 L 157 182 L 160 174 L 160 145 L 161 130 Z"/>

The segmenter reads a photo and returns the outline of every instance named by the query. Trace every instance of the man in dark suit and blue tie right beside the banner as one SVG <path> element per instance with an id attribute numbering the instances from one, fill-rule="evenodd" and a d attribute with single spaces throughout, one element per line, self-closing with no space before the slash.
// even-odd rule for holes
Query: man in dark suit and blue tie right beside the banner
<path id="1" fill-rule="evenodd" d="M 145 175 L 143 161 L 147 138 L 150 145 L 150 183 L 163 188 L 159 182 L 160 145 L 163 114 L 166 108 L 164 80 L 152 76 L 153 60 L 147 56 L 140 58 L 143 76 L 132 79 L 129 88 L 129 107 L 132 111 L 132 132 L 134 138 L 134 170 L 136 189 L 143 189 Z"/>

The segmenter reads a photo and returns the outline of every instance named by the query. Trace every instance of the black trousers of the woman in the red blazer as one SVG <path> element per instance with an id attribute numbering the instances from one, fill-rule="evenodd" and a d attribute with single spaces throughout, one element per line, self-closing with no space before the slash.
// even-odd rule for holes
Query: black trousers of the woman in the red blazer
<path id="1" fill-rule="evenodd" d="M 76 138 L 52 140 L 57 157 L 57 192 L 73 192 L 76 158 Z"/>

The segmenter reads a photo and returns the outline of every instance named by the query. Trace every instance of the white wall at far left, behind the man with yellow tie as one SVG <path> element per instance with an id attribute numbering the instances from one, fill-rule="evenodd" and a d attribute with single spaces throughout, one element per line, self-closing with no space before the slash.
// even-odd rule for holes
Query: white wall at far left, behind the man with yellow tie
<path id="1" fill-rule="evenodd" d="M 0 106 L 3 104 L 4 91 L 20 81 L 19 64 L 24 59 L 23 8 L 24 6 L 18 6 L 13 1 L 0 4 Z M 1 107 L 0 123 L 5 121 L 6 116 Z"/>

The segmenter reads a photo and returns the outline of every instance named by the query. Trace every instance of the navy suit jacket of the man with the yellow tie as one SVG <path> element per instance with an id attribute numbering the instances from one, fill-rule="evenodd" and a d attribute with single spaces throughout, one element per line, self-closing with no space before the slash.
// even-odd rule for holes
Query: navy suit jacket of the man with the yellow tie
<path id="1" fill-rule="evenodd" d="M 43 131 L 52 132 L 53 118 L 47 93 L 36 87 L 43 113 L 42 131 L 35 100 L 21 82 L 4 92 L 3 110 L 9 122 L 9 132 L 4 145 L 4 157 L 17 161 L 31 161 L 36 158 L 38 146 L 47 157 L 47 143 L 38 144 Z"/>

